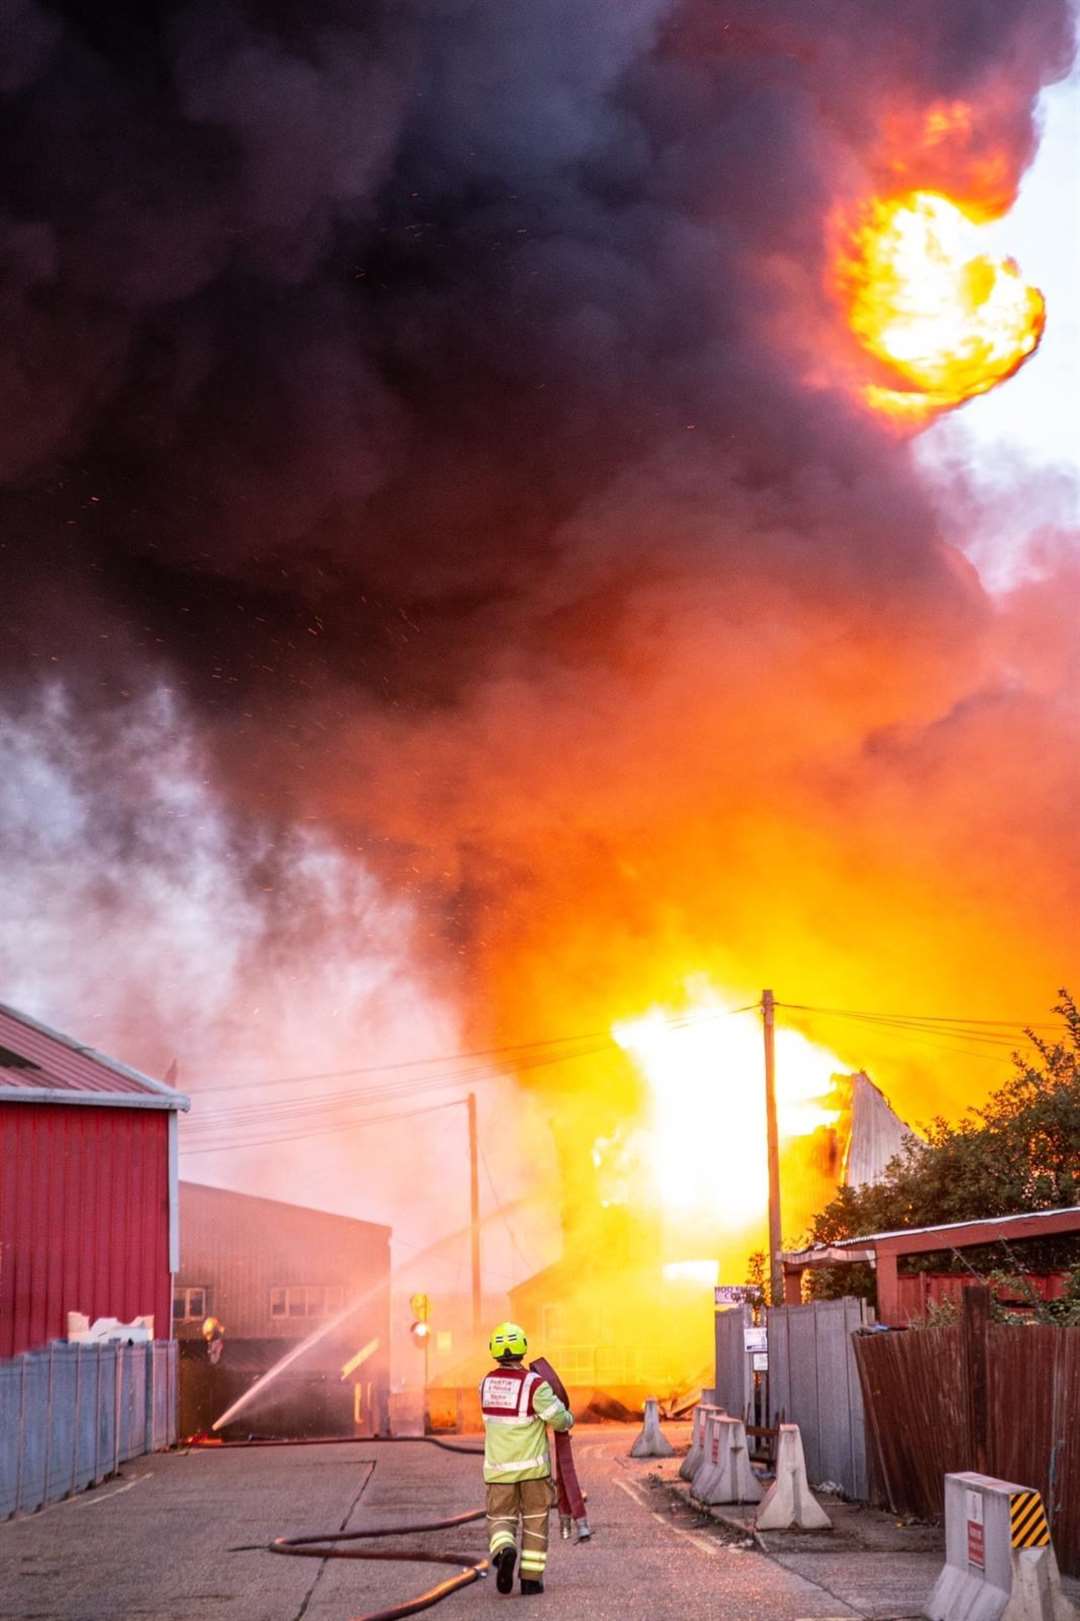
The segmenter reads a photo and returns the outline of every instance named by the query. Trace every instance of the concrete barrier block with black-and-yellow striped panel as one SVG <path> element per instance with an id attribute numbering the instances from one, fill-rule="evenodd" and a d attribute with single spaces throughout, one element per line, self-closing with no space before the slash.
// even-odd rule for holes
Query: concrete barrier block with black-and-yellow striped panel
<path id="1" fill-rule="evenodd" d="M 1077 1621 L 1039 1493 L 992 1475 L 945 1475 L 945 1566 L 931 1621 Z"/>

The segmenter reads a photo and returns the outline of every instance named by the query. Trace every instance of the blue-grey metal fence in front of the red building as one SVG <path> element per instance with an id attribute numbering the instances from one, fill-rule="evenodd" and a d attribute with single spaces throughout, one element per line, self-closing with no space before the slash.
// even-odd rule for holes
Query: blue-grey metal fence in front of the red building
<path id="1" fill-rule="evenodd" d="M 175 1441 L 177 1347 L 54 1344 L 0 1362 L 0 1519 Z"/>

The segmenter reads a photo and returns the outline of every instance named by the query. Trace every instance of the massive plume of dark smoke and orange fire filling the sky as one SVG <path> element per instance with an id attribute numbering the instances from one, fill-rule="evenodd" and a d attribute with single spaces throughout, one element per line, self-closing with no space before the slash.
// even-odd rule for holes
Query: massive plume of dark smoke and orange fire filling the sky
<path id="1" fill-rule="evenodd" d="M 1080 943 L 1075 551 L 1048 519 L 992 587 L 1002 503 L 916 454 L 1052 342 L 984 242 L 1067 0 L 19 18 L 8 994 L 242 1070 L 216 1141 L 290 1196 L 363 1153 L 311 1076 L 399 1062 L 357 982 L 436 1008 L 611 1295 L 628 1234 L 663 1268 L 762 1232 L 748 1071 L 650 1010 L 720 1029 L 772 984 L 816 1052 L 785 1073 L 981 1097 L 971 1041 L 942 1089 L 932 1034 L 837 1010 L 1023 1023 Z M 438 1130 L 379 1167 L 418 1245 Z"/>

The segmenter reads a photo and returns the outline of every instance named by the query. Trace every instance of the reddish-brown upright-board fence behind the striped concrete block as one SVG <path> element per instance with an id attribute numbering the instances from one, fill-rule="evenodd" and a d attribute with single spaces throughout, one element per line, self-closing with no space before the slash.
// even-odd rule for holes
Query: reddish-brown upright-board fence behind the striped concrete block
<path id="1" fill-rule="evenodd" d="M 855 1336 L 872 1495 L 937 1519 L 957 1470 L 1038 1486 L 1061 1568 L 1080 1574 L 1080 1328 L 994 1324 L 988 1308 L 971 1289 L 957 1326 Z"/>

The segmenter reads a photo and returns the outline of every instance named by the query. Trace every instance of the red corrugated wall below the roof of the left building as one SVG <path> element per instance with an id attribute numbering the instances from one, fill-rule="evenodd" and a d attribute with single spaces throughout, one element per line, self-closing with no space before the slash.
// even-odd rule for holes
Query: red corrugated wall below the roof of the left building
<path id="1" fill-rule="evenodd" d="M 165 1109 L 0 1102 L 0 1357 L 68 1311 L 170 1332 Z"/>

